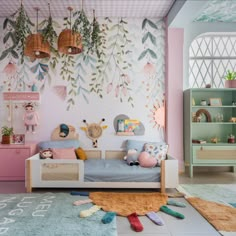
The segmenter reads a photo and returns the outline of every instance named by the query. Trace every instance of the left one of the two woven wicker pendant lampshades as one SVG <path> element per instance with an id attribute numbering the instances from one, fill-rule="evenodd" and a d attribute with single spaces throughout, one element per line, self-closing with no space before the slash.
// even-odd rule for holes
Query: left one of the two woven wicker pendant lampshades
<path id="1" fill-rule="evenodd" d="M 41 34 L 30 34 L 26 38 L 24 55 L 33 59 L 50 57 L 50 45 L 44 42 Z"/>

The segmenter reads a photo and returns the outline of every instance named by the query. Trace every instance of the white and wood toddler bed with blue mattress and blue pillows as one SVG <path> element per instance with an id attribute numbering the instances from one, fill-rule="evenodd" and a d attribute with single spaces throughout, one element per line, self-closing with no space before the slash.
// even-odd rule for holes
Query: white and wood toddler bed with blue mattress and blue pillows
<path id="1" fill-rule="evenodd" d="M 141 150 L 145 142 L 126 141 L 126 150 Z M 48 141 L 45 148 L 77 148 L 78 140 Z M 26 159 L 25 184 L 33 188 L 166 188 L 178 186 L 178 161 L 167 155 L 160 167 L 129 166 L 124 161 L 126 150 L 85 150 L 87 160 L 40 159 L 39 153 Z M 62 151 L 61 151 L 62 152 Z"/>

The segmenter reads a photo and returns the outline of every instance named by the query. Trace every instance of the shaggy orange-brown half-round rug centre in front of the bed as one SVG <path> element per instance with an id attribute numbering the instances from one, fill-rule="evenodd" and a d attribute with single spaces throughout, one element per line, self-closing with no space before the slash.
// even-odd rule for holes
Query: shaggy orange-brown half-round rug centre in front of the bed
<path id="1" fill-rule="evenodd" d="M 112 193 L 91 192 L 89 198 L 104 211 L 114 211 L 117 215 L 128 216 L 134 212 L 145 215 L 150 211 L 159 211 L 167 203 L 163 193 Z"/>

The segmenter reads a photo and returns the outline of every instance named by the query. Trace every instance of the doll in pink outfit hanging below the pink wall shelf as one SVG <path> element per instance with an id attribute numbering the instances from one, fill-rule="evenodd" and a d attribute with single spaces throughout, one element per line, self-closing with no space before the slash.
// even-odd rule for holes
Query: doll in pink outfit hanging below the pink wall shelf
<path id="1" fill-rule="evenodd" d="M 34 110 L 34 105 L 29 102 L 25 106 L 25 114 L 23 117 L 25 127 L 26 127 L 26 132 L 29 132 L 30 127 L 32 129 L 32 133 L 35 133 L 35 126 L 39 124 L 39 117 L 37 112 Z"/>

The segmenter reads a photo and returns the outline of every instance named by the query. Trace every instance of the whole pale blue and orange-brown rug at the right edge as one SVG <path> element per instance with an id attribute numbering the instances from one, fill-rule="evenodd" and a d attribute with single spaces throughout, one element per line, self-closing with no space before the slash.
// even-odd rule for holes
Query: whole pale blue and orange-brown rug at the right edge
<path id="1" fill-rule="evenodd" d="M 222 235 L 236 236 L 236 184 L 181 184 L 177 190 Z"/>

